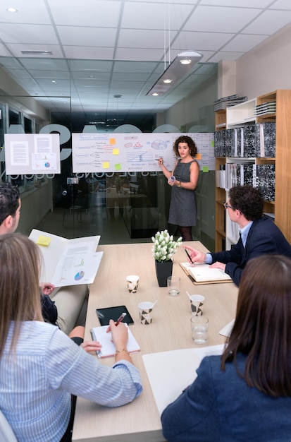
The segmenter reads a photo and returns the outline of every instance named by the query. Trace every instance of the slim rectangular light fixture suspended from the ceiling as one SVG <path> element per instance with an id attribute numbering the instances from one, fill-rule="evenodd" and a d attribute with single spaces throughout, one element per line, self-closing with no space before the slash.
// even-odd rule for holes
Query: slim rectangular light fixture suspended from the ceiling
<path id="1" fill-rule="evenodd" d="M 163 71 L 146 95 L 154 95 L 154 97 L 156 97 L 168 92 L 174 85 L 178 85 L 187 74 L 190 74 L 194 65 L 197 64 L 201 58 L 202 54 L 199 54 L 199 52 L 180 52 L 165 71 Z"/>

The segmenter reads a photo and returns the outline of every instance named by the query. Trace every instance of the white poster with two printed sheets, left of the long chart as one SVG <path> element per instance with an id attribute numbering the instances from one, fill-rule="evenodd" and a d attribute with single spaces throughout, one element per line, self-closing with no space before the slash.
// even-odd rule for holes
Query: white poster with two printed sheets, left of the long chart
<path id="1" fill-rule="evenodd" d="M 4 135 L 6 174 L 60 174 L 58 133 Z"/>

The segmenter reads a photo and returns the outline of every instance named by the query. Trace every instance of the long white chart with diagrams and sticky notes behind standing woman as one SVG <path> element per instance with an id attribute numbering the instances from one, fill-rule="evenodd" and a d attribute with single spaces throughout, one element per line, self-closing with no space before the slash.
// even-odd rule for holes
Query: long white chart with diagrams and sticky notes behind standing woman
<path id="1" fill-rule="evenodd" d="M 200 168 L 214 169 L 213 133 L 190 133 L 197 144 Z M 157 172 L 160 157 L 175 165 L 177 133 L 73 133 L 73 172 Z M 206 171 L 206 170 L 205 170 Z"/>

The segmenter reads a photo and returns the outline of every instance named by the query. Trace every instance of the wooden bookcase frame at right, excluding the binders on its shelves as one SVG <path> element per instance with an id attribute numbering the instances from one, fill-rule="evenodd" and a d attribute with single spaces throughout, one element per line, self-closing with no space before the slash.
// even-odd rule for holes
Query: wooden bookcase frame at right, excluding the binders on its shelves
<path id="1" fill-rule="evenodd" d="M 275 112 L 255 116 L 256 106 L 268 102 L 275 102 Z M 216 171 L 244 161 L 254 165 L 275 165 L 275 200 L 265 201 L 264 212 L 275 215 L 275 224 L 291 243 L 291 201 L 288 198 L 291 192 L 291 90 L 275 90 L 229 107 L 225 112 L 225 126 L 218 126 L 223 122 L 222 112 L 225 111 L 216 112 L 216 131 L 244 126 L 246 122 L 249 125 L 275 122 L 275 157 L 216 157 Z M 217 184 L 216 181 L 216 251 L 221 251 L 229 249 L 237 237 L 223 206 L 228 189 Z"/>

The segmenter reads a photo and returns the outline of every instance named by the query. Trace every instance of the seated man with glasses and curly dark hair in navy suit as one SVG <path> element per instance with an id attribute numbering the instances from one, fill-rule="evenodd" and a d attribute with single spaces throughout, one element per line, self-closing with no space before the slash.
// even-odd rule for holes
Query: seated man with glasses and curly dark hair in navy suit
<path id="1" fill-rule="evenodd" d="M 280 254 L 291 258 L 291 246 L 273 220 L 263 216 L 264 200 L 254 187 L 235 186 L 229 191 L 224 205 L 230 220 L 240 227 L 240 239 L 228 251 L 202 253 L 189 246 L 193 263 L 211 264 L 230 275 L 236 285 L 251 258 L 266 254 Z"/>

